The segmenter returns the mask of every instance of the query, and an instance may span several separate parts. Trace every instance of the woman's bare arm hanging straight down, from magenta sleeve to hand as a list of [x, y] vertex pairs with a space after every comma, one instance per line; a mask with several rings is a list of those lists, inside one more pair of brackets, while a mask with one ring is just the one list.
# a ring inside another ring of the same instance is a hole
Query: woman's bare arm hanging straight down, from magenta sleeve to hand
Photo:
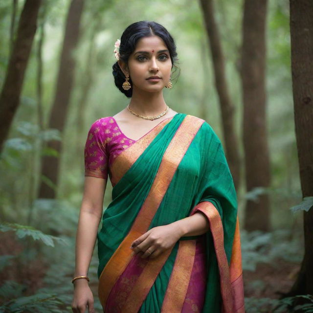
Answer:
[[[107, 179], [85, 177], [84, 194], [76, 232], [74, 277], [88, 276], [89, 265], [95, 246], [99, 223], [102, 217], [103, 197]], [[86, 279], [74, 281], [73, 312], [89, 312], [93, 308], [93, 297]]]

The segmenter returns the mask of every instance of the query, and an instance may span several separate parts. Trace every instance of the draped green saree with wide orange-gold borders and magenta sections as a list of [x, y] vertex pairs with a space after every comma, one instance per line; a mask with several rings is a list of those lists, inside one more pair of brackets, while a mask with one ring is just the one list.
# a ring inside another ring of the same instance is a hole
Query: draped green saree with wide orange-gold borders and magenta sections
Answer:
[[[97, 236], [104, 312], [243, 313], [236, 192], [210, 125], [177, 113], [117, 156], [110, 174]], [[196, 213], [209, 221], [205, 234], [181, 237], [154, 259], [133, 254], [149, 229]]]

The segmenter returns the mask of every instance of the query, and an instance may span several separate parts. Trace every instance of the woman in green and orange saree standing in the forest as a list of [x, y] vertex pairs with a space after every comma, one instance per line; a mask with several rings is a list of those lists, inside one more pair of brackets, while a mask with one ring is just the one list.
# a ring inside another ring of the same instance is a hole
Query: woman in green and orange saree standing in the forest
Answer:
[[[89, 130], [73, 312], [94, 312], [87, 273], [97, 237], [105, 313], [242, 313], [237, 200], [223, 147], [207, 122], [163, 98], [175, 42], [141, 21], [114, 52], [115, 85], [131, 101]], [[108, 176], [112, 202], [102, 217]]]

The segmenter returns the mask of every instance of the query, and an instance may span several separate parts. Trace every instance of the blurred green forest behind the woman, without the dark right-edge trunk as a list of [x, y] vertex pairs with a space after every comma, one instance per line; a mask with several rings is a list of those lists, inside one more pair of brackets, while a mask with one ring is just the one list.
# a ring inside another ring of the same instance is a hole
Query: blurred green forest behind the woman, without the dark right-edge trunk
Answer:
[[[304, 232], [287, 0], [0, 1], [0, 312], [71, 312], [84, 145], [96, 119], [130, 101], [114, 85], [113, 49], [141, 20], [177, 44], [166, 103], [205, 119], [223, 142], [246, 312], [307, 312], [288, 311], [308, 292], [289, 293]], [[101, 312], [96, 253], [89, 285]]]

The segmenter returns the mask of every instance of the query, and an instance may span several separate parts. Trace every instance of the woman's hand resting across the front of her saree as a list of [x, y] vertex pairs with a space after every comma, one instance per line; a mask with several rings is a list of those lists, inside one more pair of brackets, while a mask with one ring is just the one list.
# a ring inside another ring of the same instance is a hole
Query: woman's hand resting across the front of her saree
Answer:
[[154, 259], [163, 251], [173, 247], [181, 235], [181, 230], [177, 224], [157, 226], [134, 240], [131, 248], [135, 254], [143, 253], [142, 258], [150, 256]]

